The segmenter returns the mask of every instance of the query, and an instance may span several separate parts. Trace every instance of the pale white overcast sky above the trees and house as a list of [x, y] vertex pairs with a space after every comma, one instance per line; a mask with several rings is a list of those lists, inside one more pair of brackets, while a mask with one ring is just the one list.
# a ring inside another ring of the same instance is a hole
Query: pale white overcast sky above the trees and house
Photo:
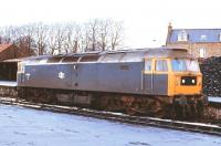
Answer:
[[157, 46], [165, 44], [169, 22], [221, 28], [220, 7], [220, 0], [1, 0], [0, 25], [114, 19], [124, 22], [126, 46]]

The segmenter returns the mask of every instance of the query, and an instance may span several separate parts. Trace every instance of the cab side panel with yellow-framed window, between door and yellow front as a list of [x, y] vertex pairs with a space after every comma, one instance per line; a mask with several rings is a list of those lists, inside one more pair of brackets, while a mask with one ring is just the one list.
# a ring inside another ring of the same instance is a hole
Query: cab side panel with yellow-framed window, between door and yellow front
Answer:
[[154, 60], [152, 94], [167, 95], [168, 93], [168, 60]]

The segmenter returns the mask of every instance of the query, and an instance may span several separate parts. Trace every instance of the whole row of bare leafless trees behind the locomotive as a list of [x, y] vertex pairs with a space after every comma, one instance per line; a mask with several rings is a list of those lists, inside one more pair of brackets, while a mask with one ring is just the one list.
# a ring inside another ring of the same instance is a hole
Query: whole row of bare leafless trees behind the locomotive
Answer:
[[0, 28], [0, 43], [20, 46], [21, 56], [116, 50], [123, 43], [123, 23], [94, 19], [87, 23], [34, 23]]

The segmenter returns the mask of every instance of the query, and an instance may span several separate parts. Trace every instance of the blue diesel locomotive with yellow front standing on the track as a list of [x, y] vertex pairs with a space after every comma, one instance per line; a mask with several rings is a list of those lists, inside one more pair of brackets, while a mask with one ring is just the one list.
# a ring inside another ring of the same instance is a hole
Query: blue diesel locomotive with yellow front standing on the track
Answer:
[[202, 74], [185, 49], [137, 49], [27, 58], [19, 97], [129, 114], [192, 116], [201, 112]]

